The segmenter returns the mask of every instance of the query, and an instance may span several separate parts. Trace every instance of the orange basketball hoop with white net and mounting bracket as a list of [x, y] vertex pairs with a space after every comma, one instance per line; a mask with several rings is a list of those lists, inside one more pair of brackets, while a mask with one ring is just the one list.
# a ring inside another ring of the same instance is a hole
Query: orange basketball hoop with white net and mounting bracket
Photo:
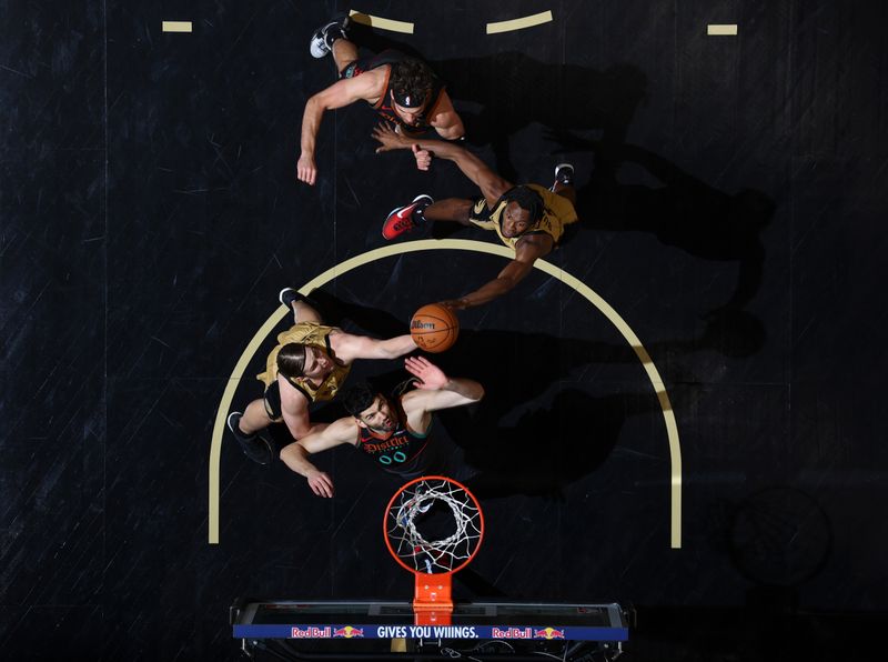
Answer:
[[415, 575], [416, 624], [448, 625], [451, 575], [468, 565], [484, 538], [475, 496], [442, 475], [412, 480], [389, 501], [383, 536], [395, 561]]

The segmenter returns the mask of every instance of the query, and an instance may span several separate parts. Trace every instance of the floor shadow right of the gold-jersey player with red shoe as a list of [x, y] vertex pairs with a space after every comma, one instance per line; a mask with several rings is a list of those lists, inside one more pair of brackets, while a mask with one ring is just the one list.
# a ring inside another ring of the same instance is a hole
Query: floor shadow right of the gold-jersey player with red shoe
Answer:
[[[710, 314], [739, 310], [756, 295], [766, 258], [761, 232], [776, 209], [771, 198], [753, 189], [726, 193], [637, 146], [564, 132], [553, 138], [568, 152], [595, 157], [588, 183], [577, 189], [581, 222], [572, 229], [649, 232], [696, 258], [736, 261], [734, 293]], [[640, 167], [660, 185], [622, 183], [617, 174], [626, 163]]]

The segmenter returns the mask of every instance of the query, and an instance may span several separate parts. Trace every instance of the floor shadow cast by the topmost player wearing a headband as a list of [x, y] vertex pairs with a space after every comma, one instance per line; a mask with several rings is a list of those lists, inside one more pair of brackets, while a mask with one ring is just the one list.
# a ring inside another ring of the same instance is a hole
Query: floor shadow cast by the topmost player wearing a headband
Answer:
[[509, 153], [512, 136], [536, 123], [553, 131], [595, 131], [605, 143], [619, 144], [647, 93], [647, 76], [629, 63], [596, 70], [543, 62], [518, 51], [432, 60], [432, 53], [366, 26], [352, 23], [350, 31], [362, 49], [393, 48], [427, 61], [447, 86], [466, 141], [490, 144], [494, 170], [511, 181], [523, 181]]

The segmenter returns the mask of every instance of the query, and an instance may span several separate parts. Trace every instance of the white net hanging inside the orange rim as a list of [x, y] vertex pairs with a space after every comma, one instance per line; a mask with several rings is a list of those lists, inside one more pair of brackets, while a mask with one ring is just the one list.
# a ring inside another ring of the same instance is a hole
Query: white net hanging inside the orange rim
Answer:
[[[422, 520], [435, 502], [450, 509], [455, 530], [441, 540], [430, 541], [417, 529], [416, 520]], [[481, 543], [481, 510], [457, 483], [423, 479], [397, 494], [386, 514], [385, 531], [392, 550], [408, 566], [427, 574], [453, 572], [468, 562]]]

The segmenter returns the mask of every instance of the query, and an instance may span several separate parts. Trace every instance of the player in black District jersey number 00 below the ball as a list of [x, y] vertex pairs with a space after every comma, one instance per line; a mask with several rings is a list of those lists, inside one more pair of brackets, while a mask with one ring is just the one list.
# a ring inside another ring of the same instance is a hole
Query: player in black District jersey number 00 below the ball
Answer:
[[427, 473], [437, 460], [432, 437], [432, 412], [477, 402], [484, 388], [465, 378], [451, 379], [422, 357], [404, 361], [416, 378], [416, 389], [397, 398], [386, 398], [369, 387], [345, 392], [345, 408], [352, 414], [331, 423], [325, 430], [309, 434], [281, 451], [281, 460], [309, 481], [319, 496], [333, 496], [333, 481], [309, 461], [309, 457], [351, 443], [374, 460], [383, 470], [404, 479]]

